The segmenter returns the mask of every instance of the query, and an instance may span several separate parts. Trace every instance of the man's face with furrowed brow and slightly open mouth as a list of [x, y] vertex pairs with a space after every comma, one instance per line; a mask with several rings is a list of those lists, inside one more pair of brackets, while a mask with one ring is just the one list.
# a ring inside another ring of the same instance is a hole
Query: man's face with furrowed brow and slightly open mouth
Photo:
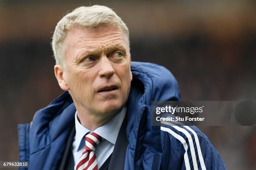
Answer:
[[74, 28], [65, 38], [63, 78], [77, 108], [90, 113], [115, 113], [131, 87], [131, 56], [118, 28]]

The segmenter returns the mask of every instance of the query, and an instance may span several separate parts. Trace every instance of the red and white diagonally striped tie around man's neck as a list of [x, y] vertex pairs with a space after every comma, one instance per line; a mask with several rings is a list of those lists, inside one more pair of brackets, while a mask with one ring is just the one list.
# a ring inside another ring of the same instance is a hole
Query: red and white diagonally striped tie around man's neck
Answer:
[[85, 135], [85, 149], [79, 158], [76, 170], [97, 170], [97, 160], [95, 155], [96, 145], [102, 141], [102, 138], [96, 133]]

